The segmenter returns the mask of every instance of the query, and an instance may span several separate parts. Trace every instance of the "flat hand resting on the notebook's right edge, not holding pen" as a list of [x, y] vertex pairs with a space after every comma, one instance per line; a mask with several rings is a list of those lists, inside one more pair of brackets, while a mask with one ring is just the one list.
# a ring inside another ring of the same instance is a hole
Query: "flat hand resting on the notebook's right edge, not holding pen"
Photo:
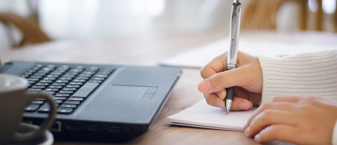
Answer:
[[257, 142], [332, 143], [337, 104], [318, 97], [275, 97], [258, 107], [244, 126]]

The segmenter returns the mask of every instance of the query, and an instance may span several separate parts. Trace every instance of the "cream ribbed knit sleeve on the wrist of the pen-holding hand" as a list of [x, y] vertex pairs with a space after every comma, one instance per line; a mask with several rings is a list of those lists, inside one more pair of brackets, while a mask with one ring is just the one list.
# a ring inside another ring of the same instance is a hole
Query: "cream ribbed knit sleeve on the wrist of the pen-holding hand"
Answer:
[[337, 100], [337, 50], [258, 59], [263, 75], [262, 103], [275, 96]]

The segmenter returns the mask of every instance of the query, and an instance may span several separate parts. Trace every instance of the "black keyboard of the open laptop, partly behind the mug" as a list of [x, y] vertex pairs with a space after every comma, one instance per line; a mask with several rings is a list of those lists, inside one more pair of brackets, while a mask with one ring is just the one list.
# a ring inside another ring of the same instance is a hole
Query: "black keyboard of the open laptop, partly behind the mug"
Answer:
[[[28, 80], [28, 93], [51, 94], [57, 113], [71, 114], [113, 72], [113, 68], [36, 65], [21, 77]], [[49, 102], [35, 99], [25, 111], [48, 113]]]

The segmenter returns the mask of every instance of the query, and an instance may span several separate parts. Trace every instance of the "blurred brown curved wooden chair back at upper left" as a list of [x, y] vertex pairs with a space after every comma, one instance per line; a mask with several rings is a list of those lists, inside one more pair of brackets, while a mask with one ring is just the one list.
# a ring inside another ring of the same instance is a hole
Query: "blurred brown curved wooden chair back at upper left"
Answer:
[[51, 39], [40, 29], [36, 23], [18, 15], [0, 13], [0, 21], [6, 24], [8, 27], [13, 25], [23, 34], [23, 39], [19, 44], [12, 44], [13, 48], [20, 47], [25, 43], [36, 44], [51, 41]]

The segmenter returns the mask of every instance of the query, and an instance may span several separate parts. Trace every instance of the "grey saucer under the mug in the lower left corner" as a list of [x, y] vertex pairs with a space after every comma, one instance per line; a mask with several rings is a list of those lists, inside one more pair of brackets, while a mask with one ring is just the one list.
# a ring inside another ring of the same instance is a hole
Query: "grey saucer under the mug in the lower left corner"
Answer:
[[[20, 133], [26, 133], [37, 129], [39, 129], [39, 126], [28, 123], [20, 123], [20, 126], [17, 131]], [[20, 142], [10, 142], [9, 145], [52, 145], [53, 142], [54, 142], [53, 134], [49, 130], [46, 130], [43, 135], [37, 138]]]

